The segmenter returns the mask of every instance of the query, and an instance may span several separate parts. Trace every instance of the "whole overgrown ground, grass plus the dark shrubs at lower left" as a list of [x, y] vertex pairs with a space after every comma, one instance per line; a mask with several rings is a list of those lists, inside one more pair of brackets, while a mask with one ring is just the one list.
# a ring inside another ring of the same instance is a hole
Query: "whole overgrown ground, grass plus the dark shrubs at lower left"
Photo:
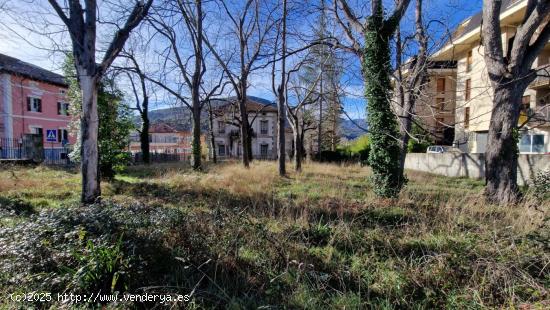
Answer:
[[550, 307], [550, 201], [483, 202], [483, 183], [408, 173], [375, 197], [369, 169], [271, 162], [131, 167], [80, 206], [77, 171], [0, 168], [0, 308], [10, 293], [187, 294], [80, 307]]

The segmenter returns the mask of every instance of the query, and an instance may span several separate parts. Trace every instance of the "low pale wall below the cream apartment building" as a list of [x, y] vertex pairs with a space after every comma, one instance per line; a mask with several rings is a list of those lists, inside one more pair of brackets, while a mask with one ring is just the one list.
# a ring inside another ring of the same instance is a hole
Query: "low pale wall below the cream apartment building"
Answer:
[[[485, 177], [484, 154], [427, 154], [410, 153], [405, 169], [423, 171], [449, 177]], [[518, 160], [518, 184], [523, 185], [541, 170], [550, 170], [550, 155], [522, 154]]]

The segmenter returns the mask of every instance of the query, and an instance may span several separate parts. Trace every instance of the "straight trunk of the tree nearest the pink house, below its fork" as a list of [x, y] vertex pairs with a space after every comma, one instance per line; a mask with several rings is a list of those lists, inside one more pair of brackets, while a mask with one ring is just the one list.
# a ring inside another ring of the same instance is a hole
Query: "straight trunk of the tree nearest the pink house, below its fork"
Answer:
[[97, 145], [99, 118], [95, 78], [89, 75], [80, 75], [80, 87], [82, 89], [82, 117], [80, 121], [80, 135], [82, 139], [80, 149], [82, 170], [81, 200], [84, 203], [94, 203], [101, 195]]

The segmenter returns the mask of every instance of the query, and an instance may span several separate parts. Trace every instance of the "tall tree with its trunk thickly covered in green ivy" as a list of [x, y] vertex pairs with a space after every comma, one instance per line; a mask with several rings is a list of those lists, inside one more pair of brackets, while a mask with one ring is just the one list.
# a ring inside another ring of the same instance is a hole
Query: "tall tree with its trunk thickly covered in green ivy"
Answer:
[[[373, 171], [374, 191], [381, 197], [397, 196], [405, 183], [399, 169], [399, 129], [390, 106], [390, 40], [409, 2], [397, 1], [394, 11], [386, 17], [383, 1], [372, 0], [371, 15], [362, 22], [346, 0], [335, 0], [334, 3], [337, 22], [351, 44], [339, 46], [356, 54], [362, 63], [372, 147], [369, 164]], [[340, 18], [340, 11], [347, 22]], [[355, 36], [357, 33], [363, 36], [363, 46]]]

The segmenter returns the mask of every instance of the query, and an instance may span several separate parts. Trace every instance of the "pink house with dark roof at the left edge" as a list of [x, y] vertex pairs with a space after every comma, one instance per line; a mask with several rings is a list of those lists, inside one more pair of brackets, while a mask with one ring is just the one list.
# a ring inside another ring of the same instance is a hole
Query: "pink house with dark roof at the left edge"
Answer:
[[63, 76], [0, 54], [0, 139], [41, 134], [44, 148], [74, 144]]

